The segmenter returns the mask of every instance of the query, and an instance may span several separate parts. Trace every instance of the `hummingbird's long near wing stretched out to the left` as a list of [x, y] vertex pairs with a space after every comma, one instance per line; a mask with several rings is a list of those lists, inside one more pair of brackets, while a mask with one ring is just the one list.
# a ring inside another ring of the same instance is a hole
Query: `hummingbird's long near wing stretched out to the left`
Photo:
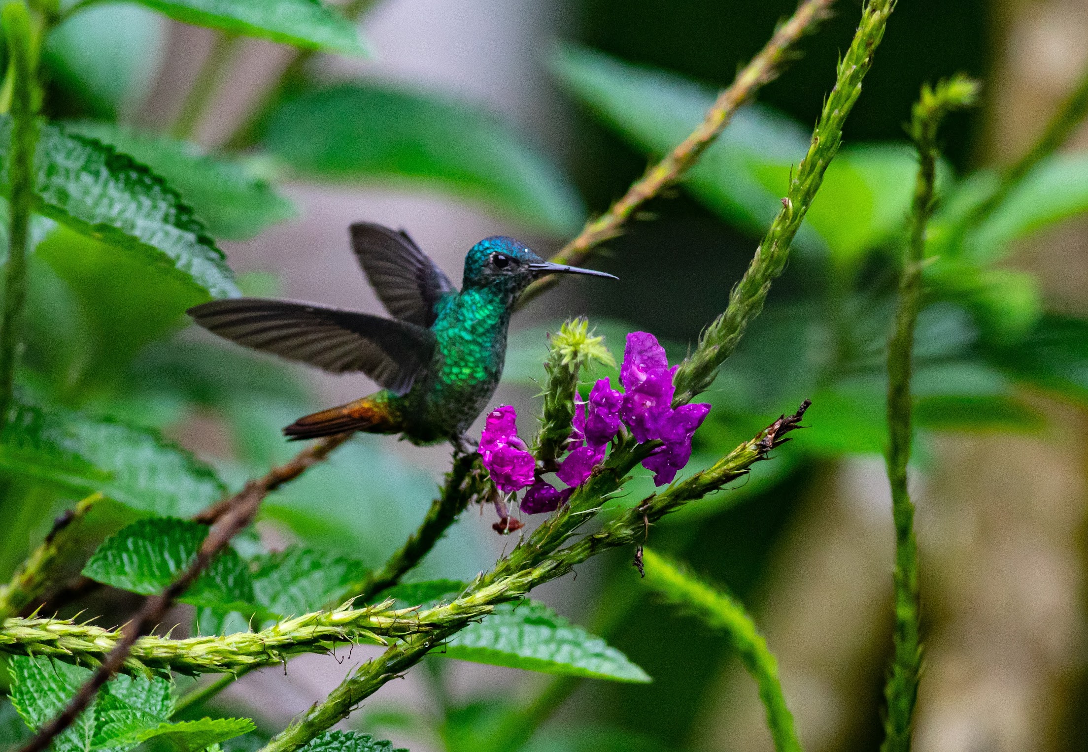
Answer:
[[312, 303], [233, 298], [188, 314], [238, 344], [334, 374], [359, 371], [397, 394], [411, 388], [434, 350], [434, 334], [421, 326]]

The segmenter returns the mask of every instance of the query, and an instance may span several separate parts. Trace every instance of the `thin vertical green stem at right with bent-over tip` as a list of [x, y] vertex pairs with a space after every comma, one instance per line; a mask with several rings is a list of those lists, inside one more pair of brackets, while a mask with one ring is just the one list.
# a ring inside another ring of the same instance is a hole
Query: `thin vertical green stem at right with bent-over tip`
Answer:
[[911, 719], [918, 695], [922, 672], [919, 637], [918, 541], [914, 532], [914, 502], [907, 490], [906, 467], [911, 460], [911, 372], [914, 328], [922, 300], [922, 267], [926, 227], [936, 208], [937, 129], [953, 108], [975, 101], [978, 85], [954, 76], [934, 89], [923, 87], [914, 105], [911, 136], [918, 150], [918, 174], [907, 218], [908, 239], [904, 249], [895, 318], [888, 339], [888, 482], [895, 523], [895, 631], [894, 655], [885, 686], [888, 713], [885, 717], [882, 752], [910, 752]]

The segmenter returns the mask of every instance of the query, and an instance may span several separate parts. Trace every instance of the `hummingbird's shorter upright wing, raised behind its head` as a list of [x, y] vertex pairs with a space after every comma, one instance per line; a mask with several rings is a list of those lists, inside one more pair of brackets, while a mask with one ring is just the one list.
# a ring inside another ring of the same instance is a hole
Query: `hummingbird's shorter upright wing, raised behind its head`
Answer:
[[400, 321], [430, 328], [435, 305], [455, 292], [449, 277], [404, 230], [369, 222], [351, 225], [351, 248], [386, 310]]

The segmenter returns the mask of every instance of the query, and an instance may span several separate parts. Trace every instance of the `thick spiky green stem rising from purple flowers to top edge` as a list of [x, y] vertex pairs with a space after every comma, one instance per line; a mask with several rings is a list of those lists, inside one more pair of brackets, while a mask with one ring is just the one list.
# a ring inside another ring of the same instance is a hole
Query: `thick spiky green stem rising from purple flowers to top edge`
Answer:
[[718, 367], [737, 349], [749, 322], [763, 310], [770, 283], [786, 268], [790, 243], [816, 198], [824, 171], [839, 151], [842, 126], [862, 93], [862, 82], [873, 65], [873, 57], [894, 9], [895, 0], [868, 0], [865, 3], [861, 24], [850, 49], [839, 62], [834, 88], [824, 102], [808, 153], [790, 183], [789, 193], [782, 199], [782, 209], [756, 249], [744, 276], [732, 289], [726, 312], [703, 331], [695, 352], [680, 365], [673, 379], [677, 387], [673, 404], [690, 402], [710, 386]]

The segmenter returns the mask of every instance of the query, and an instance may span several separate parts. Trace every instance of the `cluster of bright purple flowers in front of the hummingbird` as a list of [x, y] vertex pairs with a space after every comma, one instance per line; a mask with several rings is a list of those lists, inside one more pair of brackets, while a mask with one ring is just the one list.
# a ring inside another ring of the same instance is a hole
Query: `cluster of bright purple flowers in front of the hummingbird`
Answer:
[[691, 459], [692, 437], [710, 411], [708, 404], [672, 409], [676, 371], [676, 366], [669, 367], [665, 348], [653, 335], [633, 331], [627, 336], [619, 376], [623, 391], [613, 389], [603, 378], [593, 385], [588, 401], [576, 403], [569, 452], [556, 472], [570, 488], [560, 491], [535, 477], [535, 462], [517, 436], [516, 414], [509, 405], [487, 415], [480, 436], [483, 464], [504, 493], [529, 488], [521, 500], [524, 512], [551, 512], [567, 501], [574, 487], [585, 482], [604, 461], [608, 442], [627, 424], [640, 443], [663, 442], [642, 464], [654, 473], [657, 486], [671, 482]]

